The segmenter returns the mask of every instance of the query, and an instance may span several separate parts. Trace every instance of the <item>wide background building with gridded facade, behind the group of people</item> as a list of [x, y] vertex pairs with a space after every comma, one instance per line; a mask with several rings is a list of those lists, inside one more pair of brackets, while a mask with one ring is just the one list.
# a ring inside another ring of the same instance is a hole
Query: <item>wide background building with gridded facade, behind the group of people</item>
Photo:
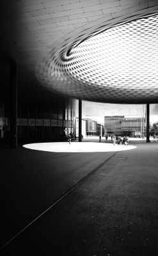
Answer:
[[145, 118], [125, 116], [104, 116], [104, 134], [129, 137], [145, 136]]

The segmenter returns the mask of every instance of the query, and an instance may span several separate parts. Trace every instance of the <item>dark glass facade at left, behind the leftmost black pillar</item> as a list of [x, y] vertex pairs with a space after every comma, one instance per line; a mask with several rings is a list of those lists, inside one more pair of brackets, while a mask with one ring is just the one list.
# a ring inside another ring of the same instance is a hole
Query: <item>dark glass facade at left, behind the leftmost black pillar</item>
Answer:
[[[45, 108], [19, 104], [17, 115], [18, 141], [63, 140], [69, 133], [75, 136], [75, 119], [78, 117], [75, 99], [52, 102]], [[0, 131], [4, 140], [10, 139], [10, 113], [1, 106]]]

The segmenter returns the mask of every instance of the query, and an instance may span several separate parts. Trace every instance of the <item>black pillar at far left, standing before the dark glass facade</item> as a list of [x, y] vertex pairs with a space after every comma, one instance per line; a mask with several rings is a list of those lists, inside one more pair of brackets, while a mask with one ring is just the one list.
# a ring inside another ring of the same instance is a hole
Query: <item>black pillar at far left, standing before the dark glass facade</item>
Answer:
[[17, 63], [10, 63], [10, 147], [17, 148]]

